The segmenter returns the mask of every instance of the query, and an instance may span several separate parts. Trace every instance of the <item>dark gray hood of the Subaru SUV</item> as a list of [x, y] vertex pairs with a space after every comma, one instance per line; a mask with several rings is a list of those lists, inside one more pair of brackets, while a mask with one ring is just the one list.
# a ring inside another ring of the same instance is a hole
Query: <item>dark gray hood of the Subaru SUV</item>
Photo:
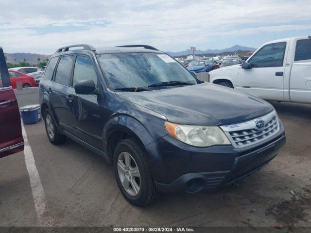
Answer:
[[118, 92], [117, 96], [165, 116], [192, 125], [223, 125], [273, 111], [270, 103], [240, 91], [211, 83], [145, 92]]

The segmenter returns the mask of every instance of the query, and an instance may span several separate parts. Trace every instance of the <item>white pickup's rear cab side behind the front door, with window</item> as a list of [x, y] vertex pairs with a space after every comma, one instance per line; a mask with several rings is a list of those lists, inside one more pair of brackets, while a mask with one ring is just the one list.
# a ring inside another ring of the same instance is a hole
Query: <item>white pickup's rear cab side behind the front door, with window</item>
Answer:
[[294, 62], [290, 77], [290, 100], [311, 103], [311, 38], [295, 42]]

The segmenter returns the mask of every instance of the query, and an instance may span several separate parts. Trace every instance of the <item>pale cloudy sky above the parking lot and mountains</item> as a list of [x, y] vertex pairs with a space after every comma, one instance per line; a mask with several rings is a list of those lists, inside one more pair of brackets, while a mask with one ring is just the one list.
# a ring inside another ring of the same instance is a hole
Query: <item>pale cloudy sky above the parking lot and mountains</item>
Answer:
[[311, 35], [310, 0], [0, 1], [0, 46], [7, 53], [52, 54], [70, 44], [258, 48], [302, 35]]

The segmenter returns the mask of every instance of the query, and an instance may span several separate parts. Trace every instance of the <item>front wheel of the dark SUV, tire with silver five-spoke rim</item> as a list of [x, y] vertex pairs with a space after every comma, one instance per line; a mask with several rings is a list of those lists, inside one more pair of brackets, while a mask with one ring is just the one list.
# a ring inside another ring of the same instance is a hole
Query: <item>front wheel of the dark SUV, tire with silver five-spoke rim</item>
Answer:
[[[130, 166], [127, 167], [125, 162], [126, 154], [130, 155], [131, 157]], [[147, 205], [157, 200], [160, 196], [160, 192], [155, 187], [155, 183], [152, 178], [152, 174], [146, 157], [146, 153], [141, 150], [137, 142], [132, 138], [122, 140], [117, 145], [113, 154], [113, 167], [115, 177], [121, 193], [128, 202], [136, 206]], [[120, 165], [120, 162], [123, 164]], [[138, 169], [136, 169], [136, 167]], [[125, 169], [127, 169], [128, 171], [127, 177], [125, 177]], [[130, 173], [129, 170], [133, 171], [133, 173]], [[136, 175], [134, 174], [134, 170]], [[128, 189], [123, 186], [122, 179], [123, 183], [125, 183], [125, 186], [128, 186]], [[126, 179], [128, 179], [128, 181], [126, 181]], [[129, 184], [126, 185], [127, 183]], [[138, 192], [135, 192], [134, 186], [139, 186]]]

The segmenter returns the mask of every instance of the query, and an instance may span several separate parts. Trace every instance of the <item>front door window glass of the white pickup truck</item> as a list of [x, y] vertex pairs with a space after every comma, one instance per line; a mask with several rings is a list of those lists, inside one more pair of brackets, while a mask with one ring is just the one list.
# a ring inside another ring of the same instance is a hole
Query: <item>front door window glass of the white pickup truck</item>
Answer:
[[286, 42], [265, 45], [248, 61], [252, 67], [282, 67]]

